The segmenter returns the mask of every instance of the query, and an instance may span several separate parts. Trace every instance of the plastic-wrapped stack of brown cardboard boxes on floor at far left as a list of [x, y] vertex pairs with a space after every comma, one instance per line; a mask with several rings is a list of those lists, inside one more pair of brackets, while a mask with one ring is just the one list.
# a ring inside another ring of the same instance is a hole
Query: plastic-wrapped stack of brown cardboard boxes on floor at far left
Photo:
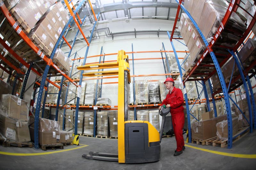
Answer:
[[17, 96], [1, 96], [0, 136], [14, 142], [30, 141], [27, 102]]

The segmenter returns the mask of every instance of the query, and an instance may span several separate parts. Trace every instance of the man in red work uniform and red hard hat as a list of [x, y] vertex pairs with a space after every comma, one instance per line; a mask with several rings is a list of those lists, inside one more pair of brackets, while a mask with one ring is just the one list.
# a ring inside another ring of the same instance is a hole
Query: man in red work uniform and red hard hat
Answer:
[[184, 126], [184, 107], [182, 106], [184, 103], [182, 91], [178, 88], [174, 87], [174, 80], [168, 77], [164, 81], [166, 89], [169, 90], [166, 98], [159, 106], [159, 110], [161, 110], [162, 105], [166, 105], [167, 108], [171, 108], [172, 115], [172, 126], [176, 139], [177, 148], [174, 152], [173, 156], [179, 156], [183, 150], [185, 150], [184, 138], [183, 138], [183, 126]]

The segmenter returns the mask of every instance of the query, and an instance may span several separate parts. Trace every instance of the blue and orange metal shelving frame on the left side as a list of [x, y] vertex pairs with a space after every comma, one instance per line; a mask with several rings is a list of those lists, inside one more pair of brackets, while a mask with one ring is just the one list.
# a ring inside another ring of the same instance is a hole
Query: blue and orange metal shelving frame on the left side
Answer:
[[[72, 9], [70, 8], [69, 6], [69, 3], [72, 4], [71, 1], [67, 1], [65, 0], [65, 4], [67, 5], [67, 8], [71, 14], [71, 18], [69, 18], [68, 20], [68, 23], [65, 25], [64, 29], [63, 30], [66, 30], [68, 28], [68, 26], [70, 27], [69, 23], [71, 23], [72, 20], [75, 21], [76, 25], [78, 26], [80, 32], [82, 33], [86, 43], [87, 43], [87, 51], [86, 51], [86, 55], [88, 53], [88, 49], [89, 49], [89, 45], [90, 43], [88, 42], [88, 40], [86, 39], [80, 25], [78, 24], [77, 20], [76, 20], [76, 17], [75, 17], [75, 14], [77, 14], [78, 10], [80, 10], [80, 8], [82, 7], [82, 5], [85, 3], [85, 0], [82, 0], [79, 2], [79, 5], [77, 6], [77, 8], [75, 9], [75, 7], [73, 6], [74, 8], [74, 13], [72, 11]], [[57, 87], [58, 89], [61, 89], [62, 86], [58, 86], [57, 84], [53, 83], [52, 81], [50, 81], [49, 79], [47, 79], [47, 74], [48, 74], [48, 71], [50, 69], [50, 66], [52, 66], [54, 69], [56, 69], [56, 72], [57, 73], [60, 73], [60, 75], [62, 75], [63, 77], [65, 77], [65, 79], [67, 79], [68, 81], [72, 82], [74, 85], [76, 85], [77, 87], [81, 87], [81, 82], [79, 82], [79, 84], [77, 84], [75, 81], [73, 81], [67, 74], [65, 74], [60, 68], [58, 68], [53, 62], [52, 62], [52, 58], [53, 58], [53, 55], [60, 43], [60, 40], [63, 38], [64, 41], [66, 41], [65, 37], [63, 36], [64, 34], [64, 31], [61, 33], [56, 45], [54, 46], [54, 49], [52, 51], [52, 54], [50, 56], [50, 58], [47, 58], [45, 56], [45, 54], [43, 52], [41, 52], [41, 50], [39, 50], [39, 48], [33, 44], [33, 42], [27, 37], [27, 35], [21, 30], [20, 26], [16, 23], [16, 21], [12, 18], [12, 16], [10, 15], [8, 9], [5, 7], [3, 1], [1, 0], [0, 1], [0, 7], [1, 7], [1, 12], [4, 14], [4, 17], [8, 20], [8, 22], [10, 23], [10, 25], [13, 27], [13, 29], [18, 33], [18, 35], [28, 44], [28, 46], [30, 46], [30, 48], [32, 50], [34, 50], [36, 52], [36, 54], [41, 58], [43, 59], [45, 62], [46, 62], [46, 67], [44, 70], [42, 70], [43, 74], [40, 74], [38, 71], [36, 71], [33, 67], [32, 67], [32, 64], [29, 65], [28, 63], [26, 63], [20, 56], [18, 56], [4, 41], [3, 39], [0, 38], [0, 43], [2, 44], [2, 46], [10, 53], [12, 54], [12, 56], [14, 56], [22, 65], [24, 65], [25, 67], [28, 68], [28, 71], [27, 73], [29, 74], [29, 72], [32, 70], [34, 73], [36, 73], [37, 75], [39, 75], [40, 77], [42, 77], [42, 80], [41, 80], [41, 83], [39, 82], [35, 82], [37, 85], [40, 85], [40, 88], [38, 90], [38, 98], [37, 98], [37, 102], [36, 102], [36, 112], [35, 112], [35, 129], [34, 129], [34, 135], [35, 135], [35, 148], [38, 149], [39, 148], [39, 145], [38, 145], [38, 121], [39, 121], [39, 112], [40, 112], [40, 106], [41, 106], [41, 99], [42, 99], [42, 94], [43, 94], [43, 89], [45, 89], [46, 87], [44, 86], [45, 84], [45, 81], [48, 81], [48, 85], [49, 83], [51, 83], [53, 86]], [[93, 10], [93, 9], [92, 9]], [[94, 12], [93, 12], [94, 13]], [[95, 16], [95, 14], [94, 14]], [[99, 15], [98, 15], [99, 16]], [[79, 18], [79, 16], [78, 16]], [[95, 23], [97, 21], [98, 18], [95, 18]], [[80, 18], [79, 18], [80, 20]], [[81, 20], [80, 20], [81, 22]], [[66, 34], [67, 35], [67, 34]], [[92, 36], [91, 36], [92, 37]], [[91, 40], [91, 38], [90, 38]], [[89, 40], [89, 41], [90, 41]], [[62, 41], [63, 42], [63, 41]], [[85, 59], [84, 59], [84, 62], [86, 60], [86, 55], [85, 55]], [[1, 56], [2, 57], [2, 56]], [[3, 60], [3, 58], [1, 58]], [[6, 61], [8, 62], [8, 61]], [[8, 64], [8, 63], [7, 63]], [[9, 63], [10, 64], [10, 63]], [[12, 68], [14, 68], [17, 73], [21, 73], [21, 74], [24, 74], [25, 73], [22, 73], [20, 72], [20, 69], [18, 69], [17, 67], [14, 67], [13, 65], [10, 64], [10, 66], [12, 66]], [[27, 74], [27, 75], [28, 75]], [[27, 78], [25, 77], [24, 81], [23, 81], [23, 87], [22, 87], [22, 93], [24, 93], [25, 91], [25, 87], [26, 87], [26, 82], [27, 81]], [[34, 93], [34, 94], [36, 94]], [[79, 101], [79, 98], [78, 98], [78, 101]], [[78, 105], [79, 106], [79, 105]], [[43, 106], [44, 108], [44, 106]], [[32, 111], [32, 110], [31, 110]], [[78, 111], [78, 110], [77, 110]], [[76, 111], [76, 114], [77, 114], [77, 111]], [[33, 114], [33, 113], [32, 113]], [[77, 121], [76, 121], [77, 122]], [[76, 124], [77, 126], [77, 124]], [[76, 128], [77, 129], [77, 128]], [[77, 133], [77, 131], [75, 131], [75, 133]]]

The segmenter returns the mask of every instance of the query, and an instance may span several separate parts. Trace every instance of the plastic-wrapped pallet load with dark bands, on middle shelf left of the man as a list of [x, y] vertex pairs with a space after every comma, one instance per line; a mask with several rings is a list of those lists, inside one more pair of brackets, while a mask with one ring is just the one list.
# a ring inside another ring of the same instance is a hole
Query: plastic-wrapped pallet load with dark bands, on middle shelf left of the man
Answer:
[[148, 82], [148, 96], [150, 103], [159, 103], [160, 102], [160, 93], [159, 93], [159, 82], [151, 81]]

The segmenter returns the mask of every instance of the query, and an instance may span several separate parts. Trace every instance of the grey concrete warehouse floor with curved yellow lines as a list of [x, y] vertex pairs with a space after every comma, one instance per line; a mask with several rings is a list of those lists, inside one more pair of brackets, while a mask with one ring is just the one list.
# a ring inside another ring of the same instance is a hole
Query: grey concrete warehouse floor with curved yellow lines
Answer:
[[[185, 137], [185, 135], [184, 135]], [[256, 131], [245, 135], [233, 144], [232, 149], [213, 147], [211, 145], [186, 144], [186, 150], [177, 157], [173, 156], [176, 149], [175, 138], [163, 138], [161, 143], [161, 158], [157, 162], [140, 164], [119, 164], [117, 162], [89, 160], [82, 154], [89, 151], [117, 153], [117, 139], [79, 137], [80, 146], [64, 146], [64, 150], [34, 150], [28, 147], [0, 146], [0, 169], [255, 169], [256, 167]], [[88, 146], [86, 146], [88, 145]], [[192, 147], [191, 147], [192, 146]], [[77, 148], [77, 149], [75, 149]], [[67, 149], [72, 149], [68, 150]], [[204, 151], [200, 150], [203, 149]], [[66, 151], [65, 151], [66, 150]], [[253, 159], [224, 156], [207, 151], [226, 152], [230, 154], [253, 154]], [[64, 152], [62, 152], [64, 151]], [[11, 153], [44, 153], [33, 156], [10, 156]]]

